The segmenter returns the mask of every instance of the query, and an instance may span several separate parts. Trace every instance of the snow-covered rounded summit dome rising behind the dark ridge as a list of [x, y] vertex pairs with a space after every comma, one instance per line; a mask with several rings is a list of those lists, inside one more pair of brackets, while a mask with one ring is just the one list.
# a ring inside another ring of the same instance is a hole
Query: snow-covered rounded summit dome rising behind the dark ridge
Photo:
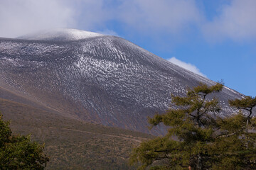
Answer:
[[92, 33], [85, 30], [76, 30], [73, 28], [56, 28], [53, 30], [44, 30], [39, 33], [33, 33], [18, 37], [18, 39], [24, 40], [81, 40], [85, 38], [92, 38], [102, 36], [99, 33]]

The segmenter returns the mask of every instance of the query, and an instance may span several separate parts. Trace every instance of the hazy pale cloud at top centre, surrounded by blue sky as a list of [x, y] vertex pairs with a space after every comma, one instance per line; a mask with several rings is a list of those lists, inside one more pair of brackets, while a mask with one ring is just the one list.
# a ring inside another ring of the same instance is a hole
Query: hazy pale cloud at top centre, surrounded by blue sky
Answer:
[[119, 21], [142, 33], [180, 33], [190, 24], [201, 21], [196, 2], [186, 0], [122, 1], [117, 15]]

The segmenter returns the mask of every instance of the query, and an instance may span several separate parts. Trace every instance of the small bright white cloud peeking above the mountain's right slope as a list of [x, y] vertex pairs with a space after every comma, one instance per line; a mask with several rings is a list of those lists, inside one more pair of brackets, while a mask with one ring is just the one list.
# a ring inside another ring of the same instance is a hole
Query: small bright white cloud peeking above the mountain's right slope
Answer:
[[176, 59], [176, 57], [171, 57], [168, 59], [169, 62], [178, 65], [179, 67], [182, 67], [184, 69], [188, 69], [191, 72], [194, 72], [196, 74], [199, 74], [203, 77], [206, 77], [205, 74], [201, 73], [200, 70], [193, 64], [182, 62], [181, 60]]

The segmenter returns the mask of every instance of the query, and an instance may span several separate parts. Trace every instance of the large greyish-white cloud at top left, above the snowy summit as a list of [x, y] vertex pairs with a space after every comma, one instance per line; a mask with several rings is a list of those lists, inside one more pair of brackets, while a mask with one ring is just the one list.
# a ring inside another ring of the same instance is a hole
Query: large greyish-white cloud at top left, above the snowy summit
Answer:
[[113, 12], [104, 3], [103, 0], [0, 0], [0, 37], [16, 38], [51, 28], [97, 30]]

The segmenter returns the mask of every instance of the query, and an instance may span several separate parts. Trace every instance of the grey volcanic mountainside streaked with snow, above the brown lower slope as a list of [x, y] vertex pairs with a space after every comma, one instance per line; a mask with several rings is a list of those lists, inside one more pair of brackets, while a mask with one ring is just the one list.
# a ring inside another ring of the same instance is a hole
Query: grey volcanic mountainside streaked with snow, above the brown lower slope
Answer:
[[[147, 116], [165, 111], [171, 94], [182, 96], [200, 82], [215, 84], [114, 36], [0, 39], [0, 87], [102, 125], [149, 132]], [[242, 97], [227, 87], [217, 95], [224, 115], [233, 113], [228, 99]]]

